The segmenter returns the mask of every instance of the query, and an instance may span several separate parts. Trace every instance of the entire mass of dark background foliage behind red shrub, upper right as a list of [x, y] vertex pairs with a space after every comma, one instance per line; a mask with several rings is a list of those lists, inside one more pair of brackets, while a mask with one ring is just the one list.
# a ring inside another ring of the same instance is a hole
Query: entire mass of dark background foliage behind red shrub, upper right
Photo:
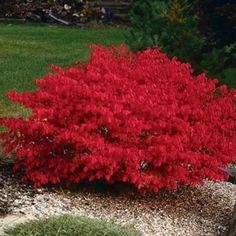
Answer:
[[[236, 40], [231, 36], [236, 17], [230, 15], [229, 4], [236, 9], [236, 4], [224, 0], [134, 0], [126, 42], [133, 51], [159, 47], [170, 57], [190, 62], [195, 73], [204, 71], [236, 87], [232, 73], [236, 68]], [[224, 27], [222, 36], [217, 25]]]

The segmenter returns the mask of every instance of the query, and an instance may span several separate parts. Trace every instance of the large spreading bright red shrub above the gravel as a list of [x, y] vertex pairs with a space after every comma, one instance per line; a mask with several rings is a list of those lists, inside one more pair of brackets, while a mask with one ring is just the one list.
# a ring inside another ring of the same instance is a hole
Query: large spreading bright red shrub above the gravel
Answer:
[[5, 149], [35, 186], [81, 180], [129, 182], [139, 190], [227, 178], [235, 162], [235, 90], [216, 88], [157, 49], [94, 46], [90, 60], [10, 92], [32, 108], [5, 118]]

